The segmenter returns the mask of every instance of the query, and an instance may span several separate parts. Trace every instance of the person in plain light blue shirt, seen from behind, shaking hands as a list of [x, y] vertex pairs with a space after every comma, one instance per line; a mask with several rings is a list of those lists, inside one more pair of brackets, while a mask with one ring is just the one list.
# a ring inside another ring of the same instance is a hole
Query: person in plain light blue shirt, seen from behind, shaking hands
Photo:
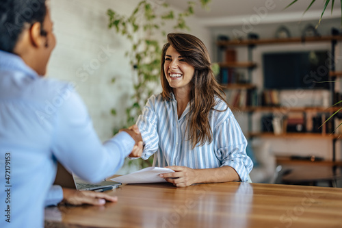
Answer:
[[116, 201], [51, 188], [57, 161], [97, 182], [142, 152], [136, 126], [102, 144], [72, 86], [42, 77], [55, 43], [46, 0], [0, 0], [0, 227], [43, 227], [44, 205], [62, 198], [76, 205]]

